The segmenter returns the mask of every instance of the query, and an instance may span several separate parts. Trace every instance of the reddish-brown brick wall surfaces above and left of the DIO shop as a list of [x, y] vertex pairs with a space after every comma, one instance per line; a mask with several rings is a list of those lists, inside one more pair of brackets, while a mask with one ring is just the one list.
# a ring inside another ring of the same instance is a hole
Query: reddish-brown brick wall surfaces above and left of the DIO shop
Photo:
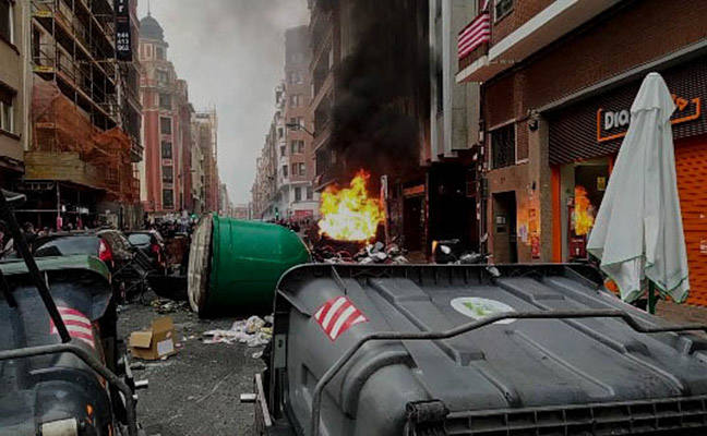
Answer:
[[[504, 32], [507, 35], [517, 28], [523, 22], [522, 14], [527, 20], [549, 3], [516, 1], [514, 13], [494, 26], [494, 40], [502, 38]], [[538, 10], [534, 11], [534, 7]], [[547, 125], [541, 120], [539, 131], [528, 131], [532, 109], [707, 38], [705, 16], [707, 2], [704, 1], [627, 2], [623, 9], [610, 12], [582, 32], [564, 37], [530, 62], [520, 63], [483, 84], [482, 110], [487, 129], [517, 120], [517, 157], [529, 157], [527, 165], [489, 172], [489, 191], [491, 194], [516, 192], [519, 225], [526, 208], [538, 211], [543, 261], [550, 259], [552, 244]], [[537, 192], [528, 190], [534, 183]], [[487, 222], [493, 247], [491, 214], [492, 210]], [[529, 259], [529, 246], [519, 243], [518, 257], [522, 262]]]

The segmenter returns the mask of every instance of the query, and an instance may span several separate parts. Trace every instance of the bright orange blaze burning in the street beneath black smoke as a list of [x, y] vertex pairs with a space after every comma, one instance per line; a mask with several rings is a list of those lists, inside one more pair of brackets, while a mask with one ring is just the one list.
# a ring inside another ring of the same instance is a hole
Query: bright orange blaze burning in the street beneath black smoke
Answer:
[[320, 234], [339, 241], [366, 242], [375, 238], [385, 213], [376, 198], [368, 195], [371, 174], [360, 170], [349, 187], [328, 186], [322, 193]]

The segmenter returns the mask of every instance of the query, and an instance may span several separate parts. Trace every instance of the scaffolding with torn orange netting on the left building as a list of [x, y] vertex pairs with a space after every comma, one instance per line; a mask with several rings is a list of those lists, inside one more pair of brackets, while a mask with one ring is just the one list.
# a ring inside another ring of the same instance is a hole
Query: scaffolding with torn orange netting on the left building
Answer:
[[137, 70], [115, 56], [109, 0], [32, 0], [28, 180], [62, 180], [139, 201]]

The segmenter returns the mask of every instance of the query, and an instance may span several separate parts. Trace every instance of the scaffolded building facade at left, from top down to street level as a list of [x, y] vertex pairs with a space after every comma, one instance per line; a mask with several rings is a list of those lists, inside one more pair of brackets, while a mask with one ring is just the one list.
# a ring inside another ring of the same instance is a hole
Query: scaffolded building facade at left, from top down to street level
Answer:
[[[20, 3], [29, 9], [32, 100], [25, 175], [15, 187], [33, 210], [21, 219], [50, 228], [140, 225], [136, 1], [10, 1], [11, 9]], [[120, 53], [118, 19], [129, 29]]]

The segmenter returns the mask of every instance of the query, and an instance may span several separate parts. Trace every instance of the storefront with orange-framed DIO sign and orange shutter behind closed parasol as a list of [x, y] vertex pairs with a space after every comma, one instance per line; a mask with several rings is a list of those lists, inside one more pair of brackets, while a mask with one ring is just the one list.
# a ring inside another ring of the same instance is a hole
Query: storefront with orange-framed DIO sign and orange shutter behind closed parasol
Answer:
[[[707, 58], [659, 72], [676, 106], [672, 129], [690, 263], [690, 303], [707, 305]], [[587, 233], [631, 123], [630, 109], [642, 80], [643, 75], [544, 114], [550, 126], [554, 261], [587, 256]]]

